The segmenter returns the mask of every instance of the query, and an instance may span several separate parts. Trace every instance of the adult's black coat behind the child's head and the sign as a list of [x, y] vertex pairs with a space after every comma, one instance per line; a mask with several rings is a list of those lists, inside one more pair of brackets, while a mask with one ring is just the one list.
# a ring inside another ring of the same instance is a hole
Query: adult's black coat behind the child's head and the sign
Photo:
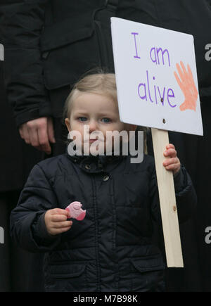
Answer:
[[[110, 17], [193, 34], [200, 99], [211, 96], [210, 0], [3, 1], [5, 81], [17, 125], [60, 117], [70, 85], [96, 66], [113, 70]], [[119, 3], [118, 3], [119, 2]], [[118, 3], [118, 4], [117, 4]], [[117, 9], [116, 9], [117, 8]]]

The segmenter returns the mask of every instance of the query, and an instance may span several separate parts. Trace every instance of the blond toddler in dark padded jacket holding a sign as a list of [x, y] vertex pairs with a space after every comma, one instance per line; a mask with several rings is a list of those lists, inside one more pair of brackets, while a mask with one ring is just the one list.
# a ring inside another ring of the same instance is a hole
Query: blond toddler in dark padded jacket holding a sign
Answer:
[[[95, 141], [106, 149], [108, 131], [136, 129], [120, 122], [115, 75], [81, 79], [65, 113], [69, 132], [81, 135], [82, 155], [67, 150], [34, 166], [11, 213], [13, 239], [26, 250], [45, 253], [46, 291], [164, 291], [165, 261], [152, 241], [153, 220], [160, 220], [153, 157], [132, 163], [121, 150], [119, 155], [91, 151]], [[196, 193], [174, 146], [163, 149], [183, 222], [196, 205]], [[86, 210], [82, 220], [65, 210], [74, 201]]]

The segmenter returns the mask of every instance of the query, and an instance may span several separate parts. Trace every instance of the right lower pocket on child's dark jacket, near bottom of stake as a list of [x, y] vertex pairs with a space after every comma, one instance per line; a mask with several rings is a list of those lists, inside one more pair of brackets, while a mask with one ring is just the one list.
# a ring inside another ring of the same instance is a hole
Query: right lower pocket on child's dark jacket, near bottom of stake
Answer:
[[165, 291], [165, 264], [160, 255], [131, 258], [132, 291]]

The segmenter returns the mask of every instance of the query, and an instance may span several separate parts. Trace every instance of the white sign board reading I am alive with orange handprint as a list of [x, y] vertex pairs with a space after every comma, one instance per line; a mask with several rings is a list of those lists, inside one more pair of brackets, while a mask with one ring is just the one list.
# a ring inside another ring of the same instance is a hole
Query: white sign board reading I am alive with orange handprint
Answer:
[[193, 36], [111, 18], [120, 120], [203, 135]]

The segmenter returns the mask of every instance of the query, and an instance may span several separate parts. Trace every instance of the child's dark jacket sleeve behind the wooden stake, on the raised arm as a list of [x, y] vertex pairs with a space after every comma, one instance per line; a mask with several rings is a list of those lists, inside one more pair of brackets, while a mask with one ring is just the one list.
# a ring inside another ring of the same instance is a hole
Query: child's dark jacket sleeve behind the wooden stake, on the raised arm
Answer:
[[[179, 223], [183, 223], [191, 217], [197, 204], [196, 191], [184, 165], [181, 165], [179, 174], [174, 177], [174, 189]], [[153, 219], [155, 221], [160, 221], [160, 201], [155, 172], [153, 172], [151, 178], [151, 212]]]

